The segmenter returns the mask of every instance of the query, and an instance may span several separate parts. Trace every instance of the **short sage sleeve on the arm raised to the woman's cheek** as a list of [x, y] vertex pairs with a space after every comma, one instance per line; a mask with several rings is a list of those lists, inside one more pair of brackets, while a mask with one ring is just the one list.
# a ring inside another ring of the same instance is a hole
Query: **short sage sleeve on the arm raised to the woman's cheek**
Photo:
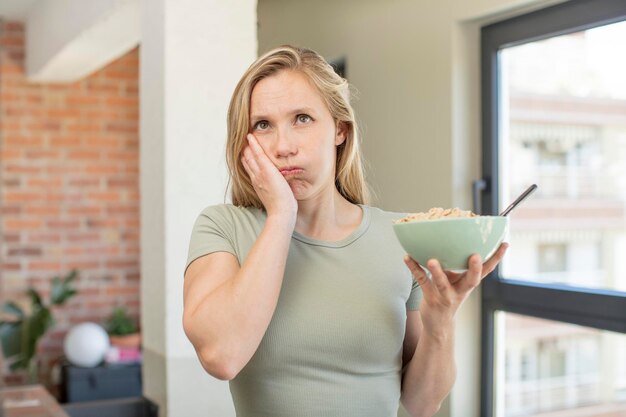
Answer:
[[185, 272], [193, 261], [213, 252], [229, 252], [237, 256], [234, 234], [232, 215], [225, 206], [202, 210], [191, 231]]

